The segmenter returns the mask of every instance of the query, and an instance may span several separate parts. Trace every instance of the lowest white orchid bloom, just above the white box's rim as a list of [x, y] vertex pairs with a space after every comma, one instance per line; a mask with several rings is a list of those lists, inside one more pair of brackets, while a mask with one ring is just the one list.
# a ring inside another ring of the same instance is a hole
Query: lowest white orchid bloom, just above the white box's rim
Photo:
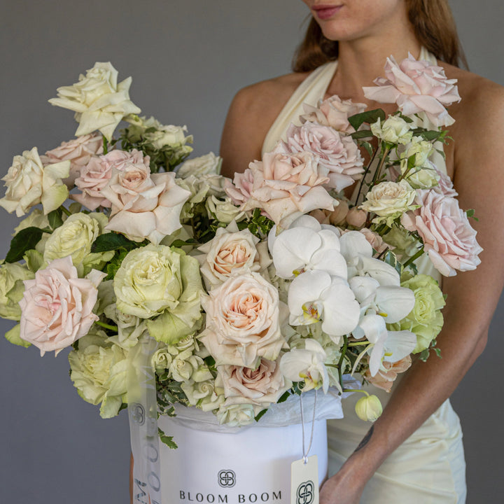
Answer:
[[291, 349], [284, 353], [280, 360], [280, 372], [290, 381], [304, 380], [303, 391], [318, 388], [322, 381], [322, 389], [328, 391], [329, 377], [324, 365], [327, 354], [321, 344], [314, 339], [304, 340], [304, 349]]

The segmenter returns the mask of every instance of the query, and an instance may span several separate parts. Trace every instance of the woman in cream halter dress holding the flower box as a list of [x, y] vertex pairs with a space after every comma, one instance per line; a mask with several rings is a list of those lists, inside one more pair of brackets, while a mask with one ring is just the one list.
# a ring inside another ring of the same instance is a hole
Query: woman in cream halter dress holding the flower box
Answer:
[[[362, 91], [382, 76], [386, 57], [400, 61], [411, 52], [416, 58], [437, 59], [447, 77], [458, 80], [462, 98], [449, 109], [456, 123], [449, 128], [454, 141], [445, 148], [447, 174], [454, 180], [461, 207], [475, 209], [479, 221], [473, 226], [484, 248], [476, 272], [443, 280], [447, 305], [437, 338], [442, 360], [414, 362], [367, 433], [351, 417], [351, 407], [346, 408], [346, 423], [330, 424], [330, 465], [335, 474], [323, 485], [320, 501], [463, 503], [461, 433], [447, 398], [483, 351], [503, 288], [504, 231], [494, 223], [500, 224], [504, 216], [504, 173], [498, 154], [504, 88], [458, 68], [461, 50], [447, 0], [303, 1], [313, 19], [295, 71], [237, 94], [223, 131], [223, 173], [243, 172], [281, 137], [279, 124], [296, 120], [300, 112], [290, 97], [305, 92], [314, 105], [317, 99], [337, 94], [365, 103], [368, 109], [393, 113], [395, 105], [371, 102]], [[322, 66], [334, 59], [337, 66]], [[335, 71], [321, 85], [330, 68]], [[314, 89], [319, 96], [312, 96]]]

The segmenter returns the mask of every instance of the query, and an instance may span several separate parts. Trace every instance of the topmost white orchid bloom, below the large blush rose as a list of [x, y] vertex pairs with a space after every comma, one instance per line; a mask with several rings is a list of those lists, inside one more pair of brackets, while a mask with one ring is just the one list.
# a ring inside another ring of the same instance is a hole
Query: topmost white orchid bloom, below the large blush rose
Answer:
[[321, 226], [316, 218], [302, 216], [288, 230], [276, 236], [276, 226], [269, 232], [268, 246], [276, 274], [283, 279], [311, 269], [321, 269], [346, 279], [346, 261], [339, 253], [339, 231]]

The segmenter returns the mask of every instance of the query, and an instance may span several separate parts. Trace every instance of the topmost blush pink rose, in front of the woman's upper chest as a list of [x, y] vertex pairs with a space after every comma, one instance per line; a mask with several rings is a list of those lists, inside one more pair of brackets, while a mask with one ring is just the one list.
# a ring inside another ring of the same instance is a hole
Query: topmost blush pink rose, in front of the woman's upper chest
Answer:
[[449, 126], [447, 105], [460, 102], [456, 79], [449, 79], [442, 66], [414, 59], [409, 55], [400, 64], [389, 57], [385, 64], [386, 78], [377, 78], [377, 87], [363, 87], [364, 96], [379, 103], [396, 103], [405, 116], [426, 113], [435, 127]]

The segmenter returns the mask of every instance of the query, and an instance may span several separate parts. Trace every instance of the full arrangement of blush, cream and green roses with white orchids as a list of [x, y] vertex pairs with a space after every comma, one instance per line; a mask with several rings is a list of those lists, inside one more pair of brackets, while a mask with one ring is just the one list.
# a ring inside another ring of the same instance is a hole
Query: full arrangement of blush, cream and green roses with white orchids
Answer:
[[[18, 322], [6, 338], [71, 346], [73, 384], [104, 418], [127, 405], [145, 338], [161, 414], [181, 403], [243, 426], [289, 395], [347, 391], [346, 374], [390, 390], [442, 328], [444, 297], [416, 260], [453, 275], [481, 248], [435, 163], [454, 81], [411, 56], [386, 77], [365, 95], [397, 113], [306, 106], [233, 180], [213, 153], [186, 160], [185, 127], [139, 117], [110, 63], [60, 87], [50, 103], [75, 112], [77, 138], [15, 156], [3, 177], [0, 205], [25, 217], [0, 266], [0, 316]], [[381, 413], [372, 395], [356, 409]]]

